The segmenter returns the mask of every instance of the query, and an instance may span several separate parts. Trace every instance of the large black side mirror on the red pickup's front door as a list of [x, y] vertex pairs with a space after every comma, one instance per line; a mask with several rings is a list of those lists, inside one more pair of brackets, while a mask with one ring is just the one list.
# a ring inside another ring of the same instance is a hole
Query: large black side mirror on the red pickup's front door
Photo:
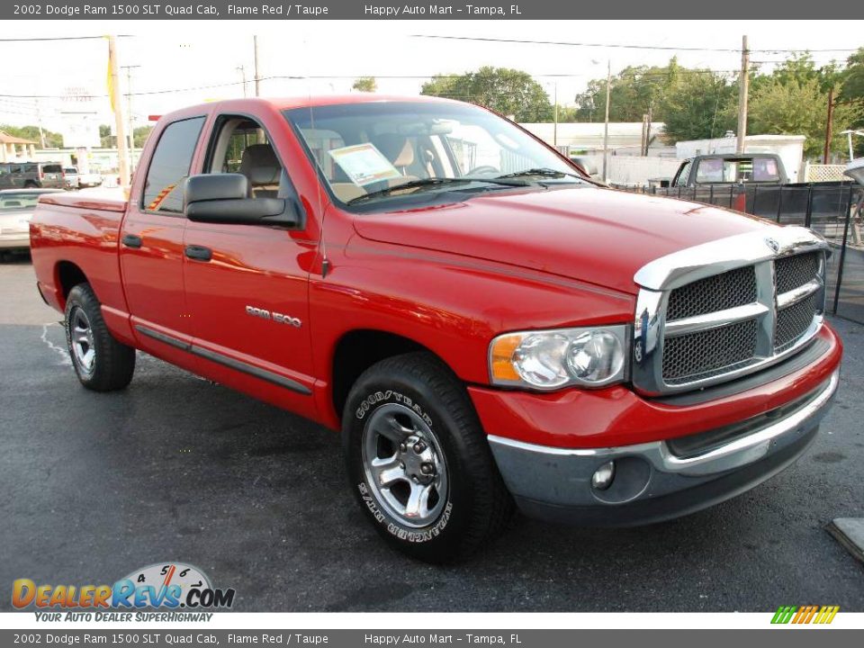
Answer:
[[243, 174], [192, 175], [184, 186], [186, 218], [224, 225], [297, 227], [302, 207], [296, 198], [249, 198]]

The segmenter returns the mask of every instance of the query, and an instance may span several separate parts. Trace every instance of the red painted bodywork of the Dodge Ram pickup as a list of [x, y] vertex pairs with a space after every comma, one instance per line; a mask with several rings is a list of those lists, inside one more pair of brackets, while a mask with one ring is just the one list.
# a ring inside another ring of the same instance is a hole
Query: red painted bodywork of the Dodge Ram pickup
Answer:
[[[546, 394], [489, 387], [489, 344], [500, 333], [632, 322], [640, 266], [682, 247], [776, 226], [592, 187], [503, 191], [387, 214], [343, 211], [329, 202], [281, 111], [366, 101], [382, 97], [235, 100], [166, 115], [148, 140], [129, 205], [95, 193], [41, 199], [31, 224], [41, 292], [62, 311], [59, 268], [72, 264], [93, 285], [117, 338], [331, 428], [339, 426], [331, 393], [335, 350], [347, 334], [365, 329], [409, 338], [441, 357], [469, 385], [487, 433], [560, 447], [630, 445], [722, 426], [795, 399], [838, 365], [840, 342], [825, 327], [820, 335], [832, 350], [817, 365], [698, 406], [646, 401], [622, 385]], [[201, 173], [214, 122], [226, 113], [253, 116], [266, 129], [306, 211], [302, 229], [205, 225], [141, 209], [146, 169], [166, 125], [205, 117], [190, 171]], [[123, 234], [142, 238], [142, 247], [121, 247]], [[187, 245], [210, 247], [213, 260], [185, 257]], [[247, 306], [302, 326], [258, 320]], [[141, 335], [135, 325], [258, 375]], [[309, 393], [263, 380], [261, 372]]]

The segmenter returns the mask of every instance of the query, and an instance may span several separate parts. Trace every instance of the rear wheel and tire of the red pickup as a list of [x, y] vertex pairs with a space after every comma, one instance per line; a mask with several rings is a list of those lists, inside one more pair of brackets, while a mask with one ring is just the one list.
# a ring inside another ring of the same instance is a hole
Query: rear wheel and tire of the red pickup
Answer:
[[[84, 322], [87, 324], [83, 326]], [[79, 343], [78, 340], [85, 340]], [[118, 342], [105, 326], [90, 284], [78, 284], [66, 301], [66, 342], [78, 380], [94, 392], [126, 387], [135, 372], [135, 349]], [[92, 356], [85, 351], [92, 350]], [[90, 362], [85, 358], [89, 357]]]

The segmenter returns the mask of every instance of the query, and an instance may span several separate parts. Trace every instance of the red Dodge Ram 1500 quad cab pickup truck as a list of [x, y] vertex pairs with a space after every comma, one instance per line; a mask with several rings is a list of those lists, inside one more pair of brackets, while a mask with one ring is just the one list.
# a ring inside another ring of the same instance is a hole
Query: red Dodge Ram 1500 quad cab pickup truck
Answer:
[[341, 429], [351, 490], [432, 562], [529, 516], [635, 525], [794, 462], [838, 383], [828, 247], [621, 193], [480, 107], [376, 95], [163, 116], [128, 201], [31, 224], [76, 374], [135, 349]]

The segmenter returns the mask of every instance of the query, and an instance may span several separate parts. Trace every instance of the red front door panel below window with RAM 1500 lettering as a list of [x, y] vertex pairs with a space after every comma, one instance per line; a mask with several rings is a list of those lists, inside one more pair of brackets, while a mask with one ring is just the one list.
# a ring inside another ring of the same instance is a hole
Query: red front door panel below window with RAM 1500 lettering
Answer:
[[246, 391], [275, 384], [279, 404], [311, 415], [308, 277], [317, 244], [294, 236], [187, 222], [185, 246], [211, 255], [184, 259], [186, 300], [204, 374]]

